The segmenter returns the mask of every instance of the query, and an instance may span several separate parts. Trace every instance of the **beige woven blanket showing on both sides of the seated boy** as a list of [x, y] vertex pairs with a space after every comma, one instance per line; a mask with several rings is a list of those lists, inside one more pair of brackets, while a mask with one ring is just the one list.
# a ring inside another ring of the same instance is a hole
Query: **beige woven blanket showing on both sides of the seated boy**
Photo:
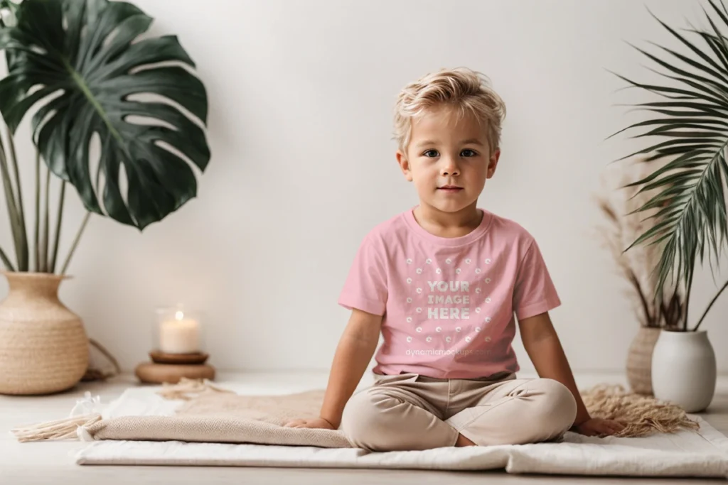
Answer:
[[[295, 418], [317, 417], [324, 390], [283, 396], [240, 396], [210, 382], [186, 380], [160, 391], [184, 399], [175, 416], [116, 417], [79, 430], [84, 440], [194, 441], [253, 443], [322, 448], [352, 445], [340, 430], [285, 428]], [[678, 406], [628, 393], [621, 386], [600, 385], [582, 392], [593, 417], [627, 423], [618, 436], [670, 433], [697, 428]]]

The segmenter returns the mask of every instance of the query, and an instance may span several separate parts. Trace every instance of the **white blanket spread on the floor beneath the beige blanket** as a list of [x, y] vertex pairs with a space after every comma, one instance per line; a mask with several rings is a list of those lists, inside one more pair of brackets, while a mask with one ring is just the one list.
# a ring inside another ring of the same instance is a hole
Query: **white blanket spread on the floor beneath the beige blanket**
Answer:
[[[240, 392], [234, 385], [226, 388]], [[181, 401], [131, 388], [104, 417], [173, 415]], [[244, 391], [243, 391], [244, 392]], [[728, 478], [728, 438], [708, 422], [646, 438], [590, 438], [566, 433], [561, 443], [439, 448], [423, 452], [371, 453], [363, 449], [312, 446], [98, 441], [76, 455], [79, 465], [218, 465], [306, 468], [410, 468], [489, 470], [614, 476], [702, 476]]]

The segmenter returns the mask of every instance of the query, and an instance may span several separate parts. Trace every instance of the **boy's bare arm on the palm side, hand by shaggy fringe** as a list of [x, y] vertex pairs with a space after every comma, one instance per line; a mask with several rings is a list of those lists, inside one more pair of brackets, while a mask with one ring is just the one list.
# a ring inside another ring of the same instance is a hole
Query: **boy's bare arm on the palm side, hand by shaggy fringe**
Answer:
[[518, 328], [523, 340], [523, 348], [529, 354], [534, 363], [539, 377], [557, 380], [565, 385], [577, 401], [577, 417], [574, 420], [573, 428], [579, 433], [587, 436], [611, 435], [622, 430], [624, 426], [614, 420], [601, 420], [592, 418], [582, 401], [574, 375], [571, 374], [569, 361], [563, 352], [558, 334], [553, 328], [548, 312], [541, 313], [529, 318], [523, 318], [518, 322]]

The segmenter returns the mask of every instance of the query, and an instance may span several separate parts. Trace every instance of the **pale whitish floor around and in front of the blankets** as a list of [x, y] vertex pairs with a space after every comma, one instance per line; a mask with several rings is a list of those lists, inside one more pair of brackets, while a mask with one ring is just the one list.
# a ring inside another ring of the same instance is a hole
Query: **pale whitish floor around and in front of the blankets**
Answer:
[[[520, 374], [519, 377], [528, 377]], [[308, 388], [325, 386], [323, 374], [224, 374], [221, 380], [250, 381], [261, 385], [271, 382], [296, 382]], [[604, 375], [577, 375], [580, 388], [598, 382], [619, 382]], [[363, 380], [363, 384], [365, 381]], [[509, 475], [501, 470], [490, 472], [442, 472], [416, 470], [336, 470], [304, 468], [219, 468], [219, 467], [112, 467], [79, 466], [72, 454], [86, 444], [63, 441], [20, 444], [9, 433], [17, 425], [47, 420], [57, 420], [68, 415], [85, 390], [99, 394], [102, 401], [118, 397], [125, 388], [136, 385], [128, 375], [106, 383], [79, 385], [74, 390], [55, 396], [13, 397], [0, 396], [0, 484], [98, 484], [98, 485], [146, 485], [146, 484], [691, 484], [707, 483], [705, 479], [657, 479], [657, 478], [586, 478], [576, 476]], [[721, 433], [728, 435], [728, 389], [719, 382], [713, 404], [703, 414], [705, 420]]]

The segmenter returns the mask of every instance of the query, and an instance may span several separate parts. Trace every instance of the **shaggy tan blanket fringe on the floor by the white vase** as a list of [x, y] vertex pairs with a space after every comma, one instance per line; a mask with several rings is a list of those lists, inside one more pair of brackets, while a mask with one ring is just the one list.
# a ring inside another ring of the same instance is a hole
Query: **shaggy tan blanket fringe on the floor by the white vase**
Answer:
[[700, 428], [700, 424], [688, 417], [680, 406], [630, 392], [622, 385], [600, 384], [581, 394], [591, 417], [625, 424], [625, 428], [614, 435], [620, 438]]

